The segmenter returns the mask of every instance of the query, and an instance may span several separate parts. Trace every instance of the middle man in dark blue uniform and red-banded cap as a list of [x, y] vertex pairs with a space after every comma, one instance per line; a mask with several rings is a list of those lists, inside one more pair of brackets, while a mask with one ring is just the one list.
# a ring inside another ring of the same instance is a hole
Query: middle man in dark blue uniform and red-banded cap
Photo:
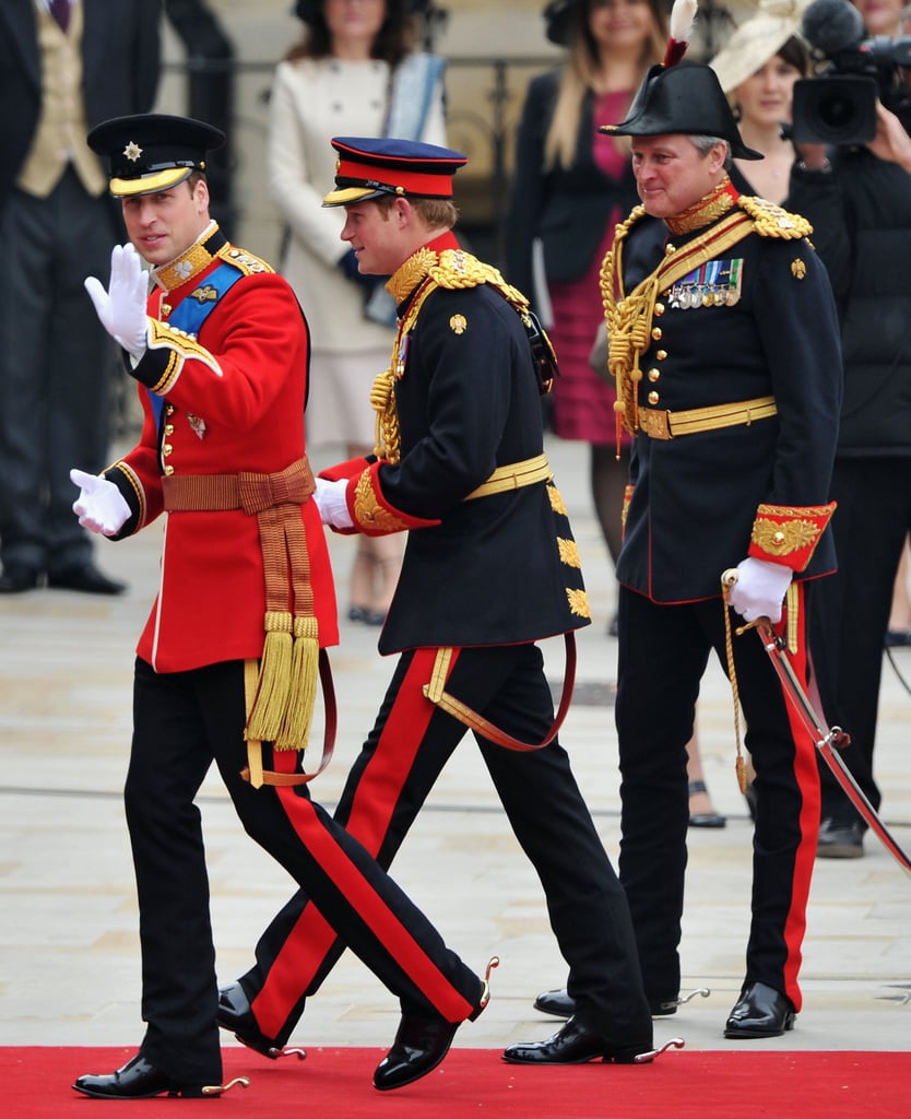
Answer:
[[[565, 751], [555, 737], [528, 749], [554, 722], [536, 641], [588, 624], [589, 606], [543, 451], [527, 300], [451, 232], [463, 156], [332, 142], [326, 205], [346, 207], [341, 236], [360, 271], [391, 276], [398, 329], [373, 394], [377, 454], [326, 471], [317, 501], [341, 532], [408, 533], [379, 640], [400, 660], [337, 819], [387, 865], [471, 727], [541, 876], [579, 1000], [545, 1059], [632, 1061], [652, 1033], [626, 897]], [[223, 991], [219, 1023], [274, 1054], [339, 951], [298, 893], [261, 939], [257, 966]]]

